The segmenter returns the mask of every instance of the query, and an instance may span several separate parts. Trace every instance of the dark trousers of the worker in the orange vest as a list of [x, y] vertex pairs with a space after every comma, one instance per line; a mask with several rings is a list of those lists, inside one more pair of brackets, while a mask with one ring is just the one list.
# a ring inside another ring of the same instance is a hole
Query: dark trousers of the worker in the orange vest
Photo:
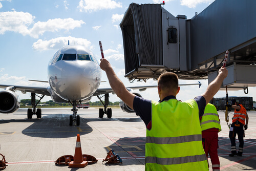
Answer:
[[[238, 126], [239, 125], [239, 126]], [[240, 122], [236, 124], [236, 122], [232, 123], [230, 127], [233, 127], [233, 131], [229, 131], [229, 139], [231, 142], [231, 153], [237, 154], [237, 148], [236, 148], [236, 136], [238, 135], [239, 140], [239, 149], [238, 154], [243, 154], [243, 148], [244, 148], [244, 125]]]

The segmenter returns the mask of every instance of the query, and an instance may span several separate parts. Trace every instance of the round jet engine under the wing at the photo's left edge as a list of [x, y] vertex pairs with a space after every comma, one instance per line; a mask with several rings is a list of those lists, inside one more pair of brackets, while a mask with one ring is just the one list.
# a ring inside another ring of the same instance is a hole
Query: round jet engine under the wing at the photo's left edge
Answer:
[[13, 91], [0, 91], [0, 113], [13, 113], [18, 110], [19, 106], [19, 97]]

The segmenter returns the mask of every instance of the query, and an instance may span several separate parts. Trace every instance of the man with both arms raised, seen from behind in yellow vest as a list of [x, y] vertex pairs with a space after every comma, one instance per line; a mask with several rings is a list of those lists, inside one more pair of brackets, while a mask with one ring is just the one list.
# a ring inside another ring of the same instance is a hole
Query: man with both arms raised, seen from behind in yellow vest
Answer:
[[127, 91], [109, 61], [100, 61], [113, 91], [146, 125], [145, 170], [208, 170], [199, 115], [220, 89], [227, 76], [226, 68], [219, 70], [205, 93], [185, 102], [176, 99], [180, 91], [178, 76], [166, 72], [158, 78], [157, 102]]

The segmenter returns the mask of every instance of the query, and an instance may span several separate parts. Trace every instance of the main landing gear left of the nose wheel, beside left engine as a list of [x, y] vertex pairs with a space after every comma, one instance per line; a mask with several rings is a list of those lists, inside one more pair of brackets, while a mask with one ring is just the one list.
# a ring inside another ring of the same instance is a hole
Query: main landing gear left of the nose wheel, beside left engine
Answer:
[[32, 119], [33, 115], [36, 115], [36, 118], [38, 119], [42, 117], [41, 108], [36, 109], [36, 106], [41, 101], [41, 99], [45, 97], [45, 95], [42, 95], [41, 97], [37, 96], [40, 98], [40, 100], [37, 103], [35, 103], [35, 96], [37, 96], [35, 93], [31, 93], [31, 105], [33, 109], [32, 108], [28, 109], [28, 119]]

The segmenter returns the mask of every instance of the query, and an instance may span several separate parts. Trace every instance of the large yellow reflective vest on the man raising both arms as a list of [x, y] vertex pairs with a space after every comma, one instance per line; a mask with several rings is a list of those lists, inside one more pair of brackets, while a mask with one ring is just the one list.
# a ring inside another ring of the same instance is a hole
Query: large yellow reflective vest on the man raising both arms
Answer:
[[145, 170], [208, 170], [197, 102], [152, 101], [146, 131]]

